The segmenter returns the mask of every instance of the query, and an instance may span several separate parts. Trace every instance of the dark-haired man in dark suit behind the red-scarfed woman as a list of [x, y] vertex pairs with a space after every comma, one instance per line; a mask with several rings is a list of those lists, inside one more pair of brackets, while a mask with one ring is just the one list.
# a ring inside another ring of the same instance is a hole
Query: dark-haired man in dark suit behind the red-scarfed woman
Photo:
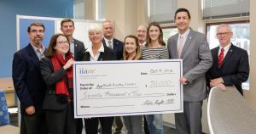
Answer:
[[65, 34], [70, 42], [70, 52], [73, 53], [76, 61], [81, 60], [82, 54], [85, 51], [84, 42], [73, 38], [73, 31], [75, 30], [74, 22], [71, 19], [64, 19], [61, 21], [61, 31]]

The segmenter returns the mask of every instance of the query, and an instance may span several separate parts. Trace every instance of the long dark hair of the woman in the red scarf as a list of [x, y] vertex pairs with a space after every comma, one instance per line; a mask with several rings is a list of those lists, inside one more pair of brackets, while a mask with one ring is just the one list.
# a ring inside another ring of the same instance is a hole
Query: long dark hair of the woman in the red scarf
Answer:
[[[49, 47], [47, 48], [45, 57], [51, 58], [55, 54], [55, 46], [57, 44], [57, 38], [59, 36], [65, 36], [67, 38], [67, 36], [62, 33], [58, 33], [58, 34], [51, 36], [50, 41], [49, 41]], [[68, 41], [68, 38], [67, 38], [67, 41]], [[70, 53], [70, 50], [68, 50], [67, 53]]]

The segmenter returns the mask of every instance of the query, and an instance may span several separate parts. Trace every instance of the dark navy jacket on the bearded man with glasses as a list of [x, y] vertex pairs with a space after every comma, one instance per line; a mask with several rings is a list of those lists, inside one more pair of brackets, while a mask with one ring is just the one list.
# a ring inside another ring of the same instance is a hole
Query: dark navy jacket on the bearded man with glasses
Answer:
[[12, 77], [15, 92], [20, 99], [20, 113], [29, 106], [41, 112], [46, 86], [40, 72], [40, 62], [31, 44], [14, 54]]

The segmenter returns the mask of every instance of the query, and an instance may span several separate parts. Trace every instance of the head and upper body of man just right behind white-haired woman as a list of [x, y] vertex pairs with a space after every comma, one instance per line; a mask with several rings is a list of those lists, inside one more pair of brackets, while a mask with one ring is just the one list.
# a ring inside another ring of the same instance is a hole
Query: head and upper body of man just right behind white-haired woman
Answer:
[[112, 48], [113, 52], [116, 53], [117, 59], [123, 59], [123, 42], [113, 37], [113, 23], [109, 20], [104, 21], [102, 31], [104, 35], [102, 38], [103, 45]]

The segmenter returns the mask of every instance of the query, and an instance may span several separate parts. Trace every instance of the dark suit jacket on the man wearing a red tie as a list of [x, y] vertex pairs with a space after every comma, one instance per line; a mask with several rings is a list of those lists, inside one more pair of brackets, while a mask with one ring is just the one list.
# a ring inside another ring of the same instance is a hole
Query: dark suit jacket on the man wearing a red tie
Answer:
[[218, 49], [211, 50], [213, 64], [207, 72], [207, 83], [210, 80], [222, 77], [225, 86], [235, 86], [241, 92], [241, 83], [247, 81], [249, 76], [249, 61], [247, 51], [231, 43], [229, 51], [224, 57], [223, 64], [218, 68]]

